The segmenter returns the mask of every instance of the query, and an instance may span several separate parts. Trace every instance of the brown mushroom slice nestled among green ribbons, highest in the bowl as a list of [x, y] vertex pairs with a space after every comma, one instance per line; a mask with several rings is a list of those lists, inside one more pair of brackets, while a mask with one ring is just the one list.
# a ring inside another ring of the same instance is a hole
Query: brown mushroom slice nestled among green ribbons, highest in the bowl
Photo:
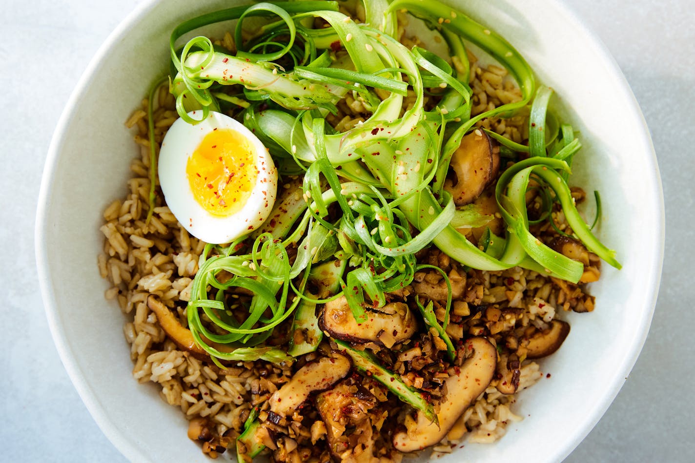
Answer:
[[472, 203], [495, 180], [500, 166], [500, 147], [476, 128], [461, 139], [449, 166], [444, 190], [451, 194], [456, 205]]

